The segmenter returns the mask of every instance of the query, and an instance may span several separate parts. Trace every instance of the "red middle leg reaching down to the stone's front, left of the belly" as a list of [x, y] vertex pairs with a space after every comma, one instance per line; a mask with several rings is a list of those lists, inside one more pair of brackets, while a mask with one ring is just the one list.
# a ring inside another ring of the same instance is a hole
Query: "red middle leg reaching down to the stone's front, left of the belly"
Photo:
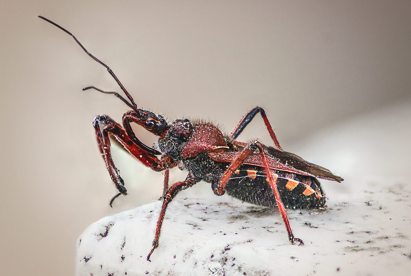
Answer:
[[159, 241], [160, 232], [161, 232], [161, 225], [163, 224], [164, 214], [166, 213], [167, 205], [169, 205], [171, 200], [173, 200], [173, 198], [175, 197], [175, 195], [179, 191], [185, 190], [185, 189], [193, 186], [196, 183], [197, 183], [197, 181], [194, 178], [194, 175], [192, 175], [190, 173], [187, 176], [187, 178], [185, 179], [185, 181], [177, 182], [177, 183], [173, 184], [173, 186], [171, 186], [170, 189], [168, 189], [168, 191], [166, 192], [166, 195], [164, 196], [163, 206], [162, 206], [161, 211], [160, 211], [160, 216], [159, 216], [158, 221], [157, 221], [157, 227], [156, 227], [156, 230], [155, 230], [154, 241], [153, 241], [153, 244], [152, 244], [153, 248], [151, 249], [150, 253], [148, 253], [148, 256], [147, 256], [148, 261], [150, 261], [150, 256], [153, 253], [154, 249], [158, 247], [158, 244], [159, 244], [158, 241]]

